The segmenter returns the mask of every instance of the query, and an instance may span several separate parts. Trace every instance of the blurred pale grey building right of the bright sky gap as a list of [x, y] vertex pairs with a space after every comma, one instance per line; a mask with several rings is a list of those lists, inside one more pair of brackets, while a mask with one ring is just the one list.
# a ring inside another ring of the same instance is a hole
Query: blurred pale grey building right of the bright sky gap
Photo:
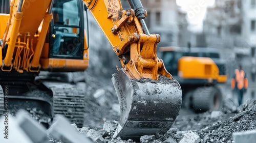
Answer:
[[[203, 32], [208, 47], [219, 48], [226, 60], [229, 78], [239, 64], [243, 66], [249, 87], [255, 86], [256, 0], [216, 0], [207, 9]], [[247, 98], [254, 98], [253, 88]]]

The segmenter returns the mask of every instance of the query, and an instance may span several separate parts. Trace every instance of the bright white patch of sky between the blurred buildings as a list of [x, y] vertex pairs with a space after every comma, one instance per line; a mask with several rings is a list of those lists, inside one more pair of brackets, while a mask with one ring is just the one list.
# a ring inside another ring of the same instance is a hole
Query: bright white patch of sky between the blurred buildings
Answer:
[[215, 0], [176, 0], [178, 6], [187, 12], [189, 30], [201, 32], [206, 8], [214, 6]]

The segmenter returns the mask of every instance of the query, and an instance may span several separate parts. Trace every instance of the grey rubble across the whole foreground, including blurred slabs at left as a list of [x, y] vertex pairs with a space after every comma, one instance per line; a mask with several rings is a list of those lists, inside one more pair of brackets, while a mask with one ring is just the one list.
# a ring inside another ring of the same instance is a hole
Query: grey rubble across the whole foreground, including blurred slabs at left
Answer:
[[[22, 115], [22, 116], [21, 116]], [[45, 142], [96, 142], [96, 143], [134, 143], [132, 139], [122, 140], [120, 137], [114, 138], [113, 134], [117, 128], [117, 121], [105, 121], [103, 129], [82, 127], [77, 128], [76, 124], [70, 124], [63, 117], [56, 117], [52, 126], [47, 130], [41, 128], [25, 113], [17, 114], [17, 123], [20, 130], [23, 126], [33, 126], [34, 131], [23, 131], [27, 134], [27, 139], [49, 140]], [[178, 117], [173, 128], [165, 134], [141, 136], [142, 143], [198, 143], [198, 142], [251, 142], [256, 138], [256, 100], [247, 100], [236, 112], [224, 113], [222, 111], [208, 111], [194, 116]], [[14, 124], [14, 123], [13, 123]], [[184, 127], [186, 126], [186, 127]], [[189, 130], [186, 130], [188, 129]], [[68, 131], [68, 132], [67, 132]], [[79, 133], [80, 132], [80, 133]], [[40, 138], [33, 138], [40, 134]], [[47, 135], [48, 134], [48, 135]], [[45, 136], [45, 137], [44, 137]], [[29, 142], [29, 141], [28, 141]], [[39, 141], [40, 142], [40, 141]]]

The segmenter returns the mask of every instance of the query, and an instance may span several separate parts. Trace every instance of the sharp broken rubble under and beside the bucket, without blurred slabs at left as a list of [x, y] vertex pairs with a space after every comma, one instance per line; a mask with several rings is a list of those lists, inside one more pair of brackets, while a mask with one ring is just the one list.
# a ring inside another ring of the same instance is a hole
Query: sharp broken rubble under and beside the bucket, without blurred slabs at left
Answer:
[[[232, 142], [233, 133], [256, 129], [256, 100], [247, 100], [237, 113], [207, 111], [194, 116], [178, 117], [166, 134], [144, 135], [140, 142]], [[77, 128], [95, 142], [135, 142], [131, 139], [113, 138], [118, 122], [106, 121], [103, 129]]]

